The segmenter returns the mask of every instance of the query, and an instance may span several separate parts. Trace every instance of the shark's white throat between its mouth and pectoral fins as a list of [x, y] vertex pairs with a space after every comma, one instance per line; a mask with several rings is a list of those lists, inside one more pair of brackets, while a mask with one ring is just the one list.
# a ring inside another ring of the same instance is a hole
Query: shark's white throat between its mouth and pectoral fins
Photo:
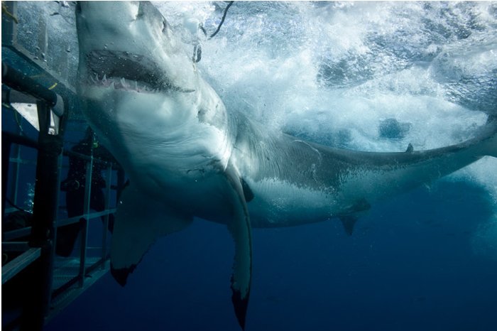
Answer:
[[102, 143], [133, 185], [152, 200], [192, 216], [226, 214], [216, 189], [231, 153], [226, 132], [196, 117], [172, 125], [165, 109], [186, 106], [164, 104], [167, 100], [154, 94], [95, 90], [98, 97], [89, 100], [87, 117], [105, 128], [99, 132]]

